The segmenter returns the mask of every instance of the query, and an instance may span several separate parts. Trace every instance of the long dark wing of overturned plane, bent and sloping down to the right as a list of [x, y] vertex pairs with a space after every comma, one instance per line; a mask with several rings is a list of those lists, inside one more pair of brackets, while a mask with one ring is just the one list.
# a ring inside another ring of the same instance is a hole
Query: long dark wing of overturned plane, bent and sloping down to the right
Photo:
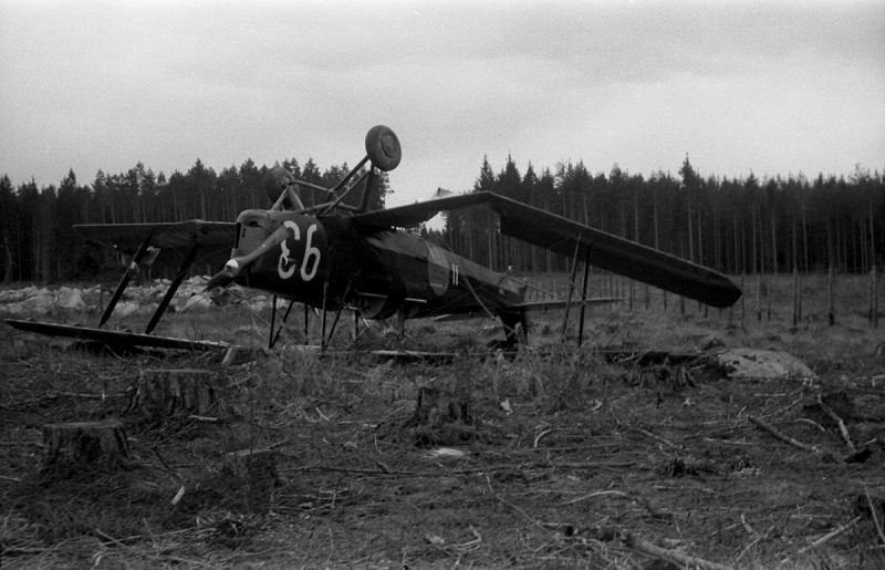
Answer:
[[409, 227], [440, 211], [477, 205], [488, 206], [500, 216], [501, 234], [506, 236], [566, 257], [577, 253], [579, 259], [598, 268], [712, 307], [730, 307], [740, 299], [740, 288], [722, 273], [493, 193], [464, 194], [369, 211], [354, 216], [353, 221], [364, 229]]

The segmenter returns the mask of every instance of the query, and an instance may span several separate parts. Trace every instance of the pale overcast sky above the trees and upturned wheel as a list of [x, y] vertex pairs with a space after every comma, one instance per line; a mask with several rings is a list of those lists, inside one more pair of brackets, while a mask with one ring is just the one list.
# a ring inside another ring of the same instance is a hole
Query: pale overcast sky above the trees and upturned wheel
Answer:
[[632, 174], [885, 169], [882, 1], [0, 0], [0, 174], [168, 176], [398, 135], [388, 204], [583, 160]]

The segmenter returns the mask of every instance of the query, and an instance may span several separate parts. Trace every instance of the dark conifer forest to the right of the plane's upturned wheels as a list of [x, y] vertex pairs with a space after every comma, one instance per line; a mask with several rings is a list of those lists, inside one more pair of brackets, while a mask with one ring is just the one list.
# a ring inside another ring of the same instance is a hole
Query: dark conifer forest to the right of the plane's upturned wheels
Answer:
[[[857, 166], [848, 177], [702, 177], [688, 156], [678, 176], [648, 177], [583, 162], [521, 174], [483, 159], [471, 191], [493, 191], [731, 274], [865, 272], [885, 253], [885, 178]], [[569, 260], [502, 238], [486, 211], [454, 211], [429, 239], [497, 270], [562, 272]]]

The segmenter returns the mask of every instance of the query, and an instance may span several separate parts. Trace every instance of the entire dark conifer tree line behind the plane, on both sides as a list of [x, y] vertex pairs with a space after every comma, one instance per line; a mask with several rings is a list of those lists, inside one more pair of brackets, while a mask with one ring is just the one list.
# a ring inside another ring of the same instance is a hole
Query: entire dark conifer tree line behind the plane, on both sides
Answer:
[[[282, 166], [308, 183], [332, 187], [347, 165], [325, 170], [309, 159]], [[75, 224], [205, 219], [231, 221], [244, 209], [268, 207], [267, 166], [251, 159], [216, 173], [199, 159], [186, 173], [155, 175], [142, 163], [125, 173], [102, 170], [81, 185], [73, 170], [58, 186], [33, 179], [13, 187], [0, 178], [0, 280], [52, 282], [95, 274], [104, 257], [71, 229]], [[392, 190], [379, 177], [372, 209]], [[845, 176], [788, 178], [702, 177], [688, 156], [674, 176], [648, 177], [615, 165], [591, 174], [583, 162], [521, 174], [511, 157], [496, 173], [483, 159], [469, 191], [494, 191], [565, 218], [677, 255], [731, 274], [834, 269], [865, 272], [885, 252], [885, 178], [860, 166]], [[301, 187], [305, 206], [329, 198]], [[345, 203], [357, 205], [358, 193]], [[492, 214], [448, 213], [446, 227], [421, 234], [497, 270], [561, 272], [569, 260], [502, 237]]]

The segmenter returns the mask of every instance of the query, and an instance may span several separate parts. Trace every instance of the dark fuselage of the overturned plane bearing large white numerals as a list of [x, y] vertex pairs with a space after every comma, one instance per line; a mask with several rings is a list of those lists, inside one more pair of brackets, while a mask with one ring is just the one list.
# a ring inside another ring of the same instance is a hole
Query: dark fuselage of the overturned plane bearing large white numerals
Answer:
[[246, 210], [232, 257], [258, 248], [280, 227], [288, 236], [237, 277], [244, 287], [317, 309], [355, 308], [384, 319], [491, 312], [522, 302], [524, 286], [404, 231], [358, 231], [348, 217]]

